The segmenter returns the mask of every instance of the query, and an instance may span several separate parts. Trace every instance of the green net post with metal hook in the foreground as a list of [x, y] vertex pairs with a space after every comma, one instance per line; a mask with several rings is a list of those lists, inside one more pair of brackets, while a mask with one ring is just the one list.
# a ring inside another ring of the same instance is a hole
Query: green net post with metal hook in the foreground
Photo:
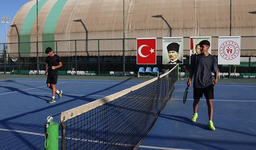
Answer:
[[44, 137], [45, 150], [59, 149], [59, 123], [53, 122], [53, 118], [50, 116], [44, 124]]

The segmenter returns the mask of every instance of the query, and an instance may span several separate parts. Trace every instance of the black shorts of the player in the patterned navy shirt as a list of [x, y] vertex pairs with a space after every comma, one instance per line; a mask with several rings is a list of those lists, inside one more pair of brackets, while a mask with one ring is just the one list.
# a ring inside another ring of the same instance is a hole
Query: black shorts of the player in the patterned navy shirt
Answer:
[[205, 99], [214, 99], [213, 96], [213, 87], [214, 85], [211, 84], [207, 87], [203, 87], [203, 88], [194, 88], [193, 90], [193, 98], [194, 99], [200, 99], [203, 97], [203, 94], [205, 95]]

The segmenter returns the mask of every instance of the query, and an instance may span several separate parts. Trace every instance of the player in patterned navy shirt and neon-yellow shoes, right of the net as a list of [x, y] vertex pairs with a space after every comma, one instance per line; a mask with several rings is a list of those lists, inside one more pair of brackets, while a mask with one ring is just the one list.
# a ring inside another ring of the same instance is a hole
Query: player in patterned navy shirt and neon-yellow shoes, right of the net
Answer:
[[[197, 54], [193, 57], [191, 64], [189, 65], [190, 73], [189, 79], [187, 82], [188, 86], [191, 86], [192, 76], [194, 74], [193, 81], [193, 116], [191, 118], [191, 122], [196, 122], [196, 118], [198, 117], [197, 108], [200, 98], [203, 97], [203, 94], [206, 98], [206, 103], [208, 106], [208, 115], [209, 122], [207, 123], [207, 127], [210, 130], [215, 130], [213, 126], [213, 87], [217, 84], [218, 81], [218, 66], [216, 58], [208, 53], [210, 42], [207, 40], [202, 40], [200, 43], [201, 54]], [[213, 81], [212, 72], [214, 72], [215, 80]]]

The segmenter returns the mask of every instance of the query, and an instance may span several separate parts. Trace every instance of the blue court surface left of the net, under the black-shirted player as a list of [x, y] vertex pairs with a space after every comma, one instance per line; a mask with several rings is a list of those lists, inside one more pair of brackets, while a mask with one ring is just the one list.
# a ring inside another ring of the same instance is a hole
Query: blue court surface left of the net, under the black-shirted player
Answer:
[[[142, 81], [58, 80], [62, 98], [49, 104], [52, 92], [46, 79], [0, 81], [0, 149], [44, 149], [44, 123], [48, 116], [89, 103]], [[60, 115], [54, 117], [59, 122]]]

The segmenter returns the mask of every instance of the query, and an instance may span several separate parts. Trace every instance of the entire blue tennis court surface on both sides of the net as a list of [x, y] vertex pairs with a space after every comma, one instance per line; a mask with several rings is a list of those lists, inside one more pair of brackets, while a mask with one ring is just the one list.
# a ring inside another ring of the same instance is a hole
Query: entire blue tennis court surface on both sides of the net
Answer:
[[[146, 78], [141, 78], [143, 81], [138, 81], [138, 78], [133, 78], [137, 81], [129, 78], [121, 78], [123, 81], [91, 79], [96, 78], [59, 79], [56, 87], [63, 90], [63, 97], [52, 104], [47, 103], [51, 98], [51, 90], [46, 87], [46, 79], [0, 80], [1, 149], [44, 149], [44, 123], [49, 115], [57, 115], [149, 80]], [[215, 131], [210, 131], [206, 127], [208, 115], [204, 98], [199, 102], [197, 121], [190, 122], [193, 113], [193, 88], [189, 89], [188, 100], [183, 104], [186, 81], [187, 78], [180, 79], [175, 84], [171, 100], [167, 102], [153, 129], [138, 150], [255, 148], [255, 79], [218, 80], [214, 89], [215, 101], [213, 101]], [[59, 120], [60, 115], [53, 117], [54, 122]]]

